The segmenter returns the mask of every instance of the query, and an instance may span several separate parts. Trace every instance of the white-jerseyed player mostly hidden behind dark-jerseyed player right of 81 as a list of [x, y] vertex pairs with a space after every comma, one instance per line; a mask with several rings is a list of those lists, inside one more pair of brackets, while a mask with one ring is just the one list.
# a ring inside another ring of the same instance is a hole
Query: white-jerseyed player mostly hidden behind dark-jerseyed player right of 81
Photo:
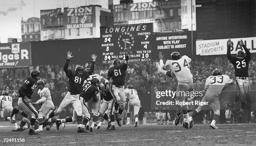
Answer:
[[[89, 70], [89, 68], [87, 68], [85, 70]], [[100, 77], [99, 74], [91, 74], [88, 77], [88, 79], [86, 79], [84, 81], [84, 84], [91, 83], [91, 80], [93, 78], [97, 78], [100, 81], [99, 82], [99, 86], [100, 86], [101, 91], [105, 90], [105, 86], [102, 83], [101, 77]], [[98, 89], [99, 89], [99, 87], [98, 87]], [[92, 99], [90, 99], [89, 101], [86, 102], [87, 107], [90, 109], [90, 113], [92, 113], [92, 115], [93, 115], [92, 116], [92, 123], [91, 123], [91, 127], [90, 127], [90, 131], [91, 132], [93, 132], [93, 129], [94, 129], [94, 126], [95, 126], [95, 122], [98, 119], [98, 113], [99, 113], [99, 109], [100, 109], [100, 92], [97, 94], [97, 99], [98, 99], [97, 102], [94, 102]], [[87, 122], [86, 129], [89, 129], [89, 126], [90, 126], [89, 123], [90, 122]]]

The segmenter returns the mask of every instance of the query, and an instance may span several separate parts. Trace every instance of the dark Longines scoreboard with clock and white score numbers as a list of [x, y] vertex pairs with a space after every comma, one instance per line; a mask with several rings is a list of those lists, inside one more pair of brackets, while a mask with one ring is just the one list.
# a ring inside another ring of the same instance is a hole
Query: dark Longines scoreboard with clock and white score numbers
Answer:
[[131, 61], [150, 60], [152, 31], [151, 23], [101, 27], [102, 63], [112, 62], [115, 58], [125, 59], [127, 51]]

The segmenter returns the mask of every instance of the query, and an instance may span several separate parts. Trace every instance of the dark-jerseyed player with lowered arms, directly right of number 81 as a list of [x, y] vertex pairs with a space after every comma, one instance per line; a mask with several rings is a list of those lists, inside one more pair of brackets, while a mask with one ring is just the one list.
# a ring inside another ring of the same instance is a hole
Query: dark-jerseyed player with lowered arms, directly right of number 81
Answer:
[[[83, 98], [83, 104], [86, 107], [84, 119], [82, 121], [82, 129], [79, 129], [79, 133], [87, 133], [87, 131], [84, 130], [85, 125], [87, 122], [91, 119], [91, 114], [89, 112], [88, 106], [85, 104], [87, 101], [89, 101], [91, 98], [94, 102], [99, 100], [97, 98], [97, 94], [99, 93], [98, 86], [99, 86], [99, 79], [92, 78], [91, 83], [87, 82], [83, 85], [82, 91], [80, 93], [80, 98]], [[92, 130], [91, 130], [92, 131]]]

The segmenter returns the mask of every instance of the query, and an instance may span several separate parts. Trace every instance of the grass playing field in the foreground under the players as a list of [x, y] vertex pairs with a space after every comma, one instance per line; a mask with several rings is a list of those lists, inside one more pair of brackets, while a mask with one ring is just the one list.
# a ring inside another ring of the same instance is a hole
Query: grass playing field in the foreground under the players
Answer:
[[[256, 124], [217, 124], [218, 130], [207, 124], [195, 124], [192, 129], [184, 129], [182, 125], [146, 124], [122, 127], [115, 131], [107, 131], [106, 125], [87, 134], [77, 134], [76, 124], [66, 124], [65, 129], [40, 132], [30, 136], [28, 130], [12, 132], [9, 122], [0, 122], [1, 146], [212, 146], [212, 145], [256, 145]], [[4, 139], [25, 139], [25, 142], [4, 142]]]

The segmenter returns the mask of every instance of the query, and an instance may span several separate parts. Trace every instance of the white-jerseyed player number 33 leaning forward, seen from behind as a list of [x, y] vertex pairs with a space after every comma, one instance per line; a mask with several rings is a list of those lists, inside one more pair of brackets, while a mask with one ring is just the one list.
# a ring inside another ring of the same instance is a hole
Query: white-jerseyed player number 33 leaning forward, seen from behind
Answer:
[[[205, 102], [205, 104], [210, 103], [212, 106], [212, 110], [214, 112], [213, 120], [210, 124], [210, 127], [213, 129], [218, 129], [217, 126], [215, 126], [216, 121], [219, 119], [220, 116], [220, 100], [219, 95], [222, 89], [227, 84], [233, 84], [235, 83], [235, 80], [230, 79], [228, 75], [220, 75], [220, 70], [216, 69], [212, 72], [212, 76], [208, 77], [205, 81], [205, 89], [206, 93], [205, 96], [202, 98], [201, 103]], [[194, 118], [197, 113], [202, 111], [202, 107], [205, 105], [200, 105], [197, 107], [195, 111], [191, 114], [190, 118]]]

